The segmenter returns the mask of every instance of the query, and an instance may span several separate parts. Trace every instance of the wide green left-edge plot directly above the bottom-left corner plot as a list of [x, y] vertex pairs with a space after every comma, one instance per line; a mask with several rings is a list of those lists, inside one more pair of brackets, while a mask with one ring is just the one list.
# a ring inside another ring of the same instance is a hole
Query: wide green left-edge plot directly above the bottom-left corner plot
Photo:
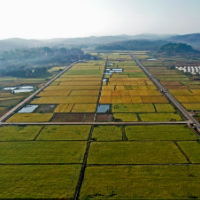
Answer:
[[82, 163], [86, 142], [2, 142], [1, 164]]

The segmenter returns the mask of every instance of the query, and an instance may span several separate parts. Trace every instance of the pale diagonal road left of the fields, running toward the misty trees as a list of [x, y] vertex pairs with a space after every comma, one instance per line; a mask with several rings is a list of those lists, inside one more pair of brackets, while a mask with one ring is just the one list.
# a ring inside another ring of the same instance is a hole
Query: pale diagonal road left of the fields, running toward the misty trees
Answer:
[[[75, 62], [76, 63], [76, 62]], [[5, 121], [9, 116], [11, 116], [16, 110], [18, 110], [20, 107], [22, 107], [24, 104], [31, 101], [39, 92], [41, 92], [44, 88], [49, 86], [53, 81], [55, 81], [59, 76], [61, 76], [63, 73], [65, 73], [69, 68], [71, 68], [75, 63], [72, 63], [71, 65], [67, 66], [64, 70], [62, 70], [59, 74], [54, 76], [50, 81], [45, 83], [41, 88], [39, 88], [37, 91], [35, 91], [33, 94], [28, 96], [26, 99], [24, 99], [21, 103], [17, 104], [14, 108], [9, 110], [5, 115], [3, 115], [0, 118], [0, 123]]]

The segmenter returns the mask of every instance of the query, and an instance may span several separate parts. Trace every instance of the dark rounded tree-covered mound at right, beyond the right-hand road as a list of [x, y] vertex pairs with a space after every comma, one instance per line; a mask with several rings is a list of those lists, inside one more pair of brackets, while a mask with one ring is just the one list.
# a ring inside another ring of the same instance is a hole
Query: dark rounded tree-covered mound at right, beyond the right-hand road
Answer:
[[184, 43], [168, 43], [161, 46], [158, 53], [174, 55], [177, 53], [199, 53], [199, 51], [194, 50], [190, 45]]

